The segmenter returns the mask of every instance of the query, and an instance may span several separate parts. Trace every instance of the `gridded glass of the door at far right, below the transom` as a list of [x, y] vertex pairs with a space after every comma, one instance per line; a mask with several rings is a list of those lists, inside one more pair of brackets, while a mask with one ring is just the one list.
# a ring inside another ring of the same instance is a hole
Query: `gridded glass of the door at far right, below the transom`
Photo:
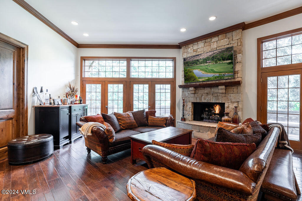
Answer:
[[290, 140], [300, 136], [300, 74], [267, 77], [267, 122], [281, 123]]

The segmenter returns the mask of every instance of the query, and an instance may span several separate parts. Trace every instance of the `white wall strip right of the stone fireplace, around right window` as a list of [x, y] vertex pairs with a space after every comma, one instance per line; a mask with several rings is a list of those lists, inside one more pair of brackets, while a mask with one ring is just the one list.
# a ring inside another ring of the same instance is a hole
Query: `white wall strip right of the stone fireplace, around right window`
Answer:
[[256, 119], [257, 38], [302, 27], [302, 14], [244, 30], [243, 37], [243, 120]]

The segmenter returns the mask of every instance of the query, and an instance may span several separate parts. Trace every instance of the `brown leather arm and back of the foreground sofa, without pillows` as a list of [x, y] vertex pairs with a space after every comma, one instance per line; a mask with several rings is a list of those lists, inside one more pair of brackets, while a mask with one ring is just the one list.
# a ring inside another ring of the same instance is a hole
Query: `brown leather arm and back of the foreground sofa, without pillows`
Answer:
[[142, 153], [149, 168], [163, 164], [193, 179], [198, 200], [257, 200], [279, 132], [278, 127], [272, 127], [239, 170], [197, 161], [155, 145], [143, 147]]

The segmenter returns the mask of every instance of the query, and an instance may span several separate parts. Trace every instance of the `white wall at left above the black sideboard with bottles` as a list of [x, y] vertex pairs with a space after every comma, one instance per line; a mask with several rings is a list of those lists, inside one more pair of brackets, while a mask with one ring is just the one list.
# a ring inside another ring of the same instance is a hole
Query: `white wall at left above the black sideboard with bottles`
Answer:
[[28, 45], [28, 134], [34, 134], [33, 87], [63, 95], [77, 74], [77, 48], [11, 0], [0, 1], [0, 33]]

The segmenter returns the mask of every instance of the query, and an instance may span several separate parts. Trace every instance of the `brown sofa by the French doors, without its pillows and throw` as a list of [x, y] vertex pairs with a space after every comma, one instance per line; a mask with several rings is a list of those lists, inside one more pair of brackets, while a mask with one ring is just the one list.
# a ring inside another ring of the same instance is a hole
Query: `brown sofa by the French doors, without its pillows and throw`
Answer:
[[[159, 117], [159, 116], [157, 116]], [[172, 117], [166, 118], [166, 127], [172, 126]], [[80, 121], [76, 122], [79, 127], [82, 127], [88, 121], [84, 117], [80, 118]], [[145, 133], [152, 130], [161, 129], [162, 127], [149, 127], [141, 126], [133, 129], [120, 130], [115, 133], [115, 140], [113, 143], [108, 142], [107, 135], [103, 128], [96, 126], [92, 128], [92, 135], [85, 137], [85, 146], [87, 147], [87, 152], [90, 153], [91, 150], [102, 156], [103, 163], [107, 162], [107, 156], [130, 149], [130, 137], [131, 135], [136, 135], [140, 133]]]

